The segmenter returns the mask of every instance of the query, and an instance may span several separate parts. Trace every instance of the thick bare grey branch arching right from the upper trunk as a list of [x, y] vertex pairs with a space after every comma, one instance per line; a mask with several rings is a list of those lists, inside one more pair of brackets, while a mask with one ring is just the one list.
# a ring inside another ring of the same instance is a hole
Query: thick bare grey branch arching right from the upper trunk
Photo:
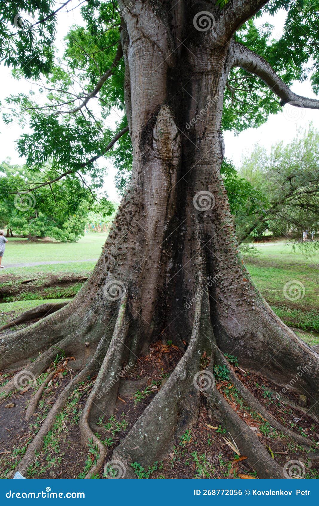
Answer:
[[302, 97], [292, 92], [266, 60], [239, 43], [234, 45], [233, 67], [241, 67], [260, 77], [282, 99], [280, 105], [291, 102], [291, 105], [296, 107], [319, 109], [319, 100]]

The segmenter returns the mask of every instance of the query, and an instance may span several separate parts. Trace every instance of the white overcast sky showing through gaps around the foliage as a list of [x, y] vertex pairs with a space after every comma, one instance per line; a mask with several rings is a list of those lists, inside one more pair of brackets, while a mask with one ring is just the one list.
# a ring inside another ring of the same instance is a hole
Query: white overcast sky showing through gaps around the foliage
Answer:
[[[81, 0], [73, 0], [72, 7], [74, 8]], [[262, 16], [259, 18], [258, 23], [262, 24], [269, 21], [274, 25], [272, 36], [279, 38], [283, 30], [285, 22], [285, 12], [279, 12], [275, 17]], [[58, 15], [58, 33], [56, 45], [58, 47], [58, 54], [62, 56], [64, 47], [64, 37], [72, 24], [83, 24], [79, 9], [74, 9], [71, 12], [60, 12]], [[11, 71], [4, 66], [1, 66], [1, 85], [0, 85], [0, 100], [3, 105], [5, 97], [10, 94], [16, 94], [21, 91], [27, 92], [31, 86], [24, 80], [17, 81], [11, 76]], [[32, 89], [36, 90], [36, 88]], [[293, 83], [292, 90], [309, 98], [315, 98], [312, 93], [310, 83], [295, 82]], [[117, 119], [117, 118], [115, 118]], [[297, 129], [300, 127], [306, 128], [310, 121], [316, 128], [319, 129], [319, 111], [312, 109], [299, 109], [289, 105], [285, 105], [283, 110], [277, 115], [269, 116], [267, 122], [260, 126], [258, 129], [248, 129], [245, 132], [235, 136], [232, 132], [224, 133], [225, 141], [225, 156], [235, 163], [238, 167], [241, 163], [243, 153], [250, 152], [255, 144], [264, 146], [270, 150], [271, 146], [278, 141], [288, 143], [296, 135]], [[1, 139], [1, 160], [7, 157], [11, 158], [11, 163], [24, 163], [23, 158], [19, 158], [16, 151], [15, 140], [21, 135], [22, 130], [19, 125], [13, 123], [8, 127], [0, 119], [0, 139]], [[114, 185], [115, 171], [112, 165], [108, 165], [108, 174], [105, 178], [105, 190], [108, 192], [111, 200], [119, 200]]]

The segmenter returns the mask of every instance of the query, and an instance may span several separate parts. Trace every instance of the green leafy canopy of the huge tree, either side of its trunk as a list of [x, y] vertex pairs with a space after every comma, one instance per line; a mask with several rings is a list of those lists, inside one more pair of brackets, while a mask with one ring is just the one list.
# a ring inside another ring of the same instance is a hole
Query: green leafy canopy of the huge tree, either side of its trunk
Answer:
[[[222, 8], [224, 3], [219, 4]], [[32, 173], [40, 177], [41, 167], [50, 163], [52, 173], [68, 172], [72, 180], [79, 171], [97, 190], [105, 171], [97, 159], [111, 157], [118, 171], [117, 186], [123, 190], [131, 167], [129, 136], [123, 136], [113, 150], [106, 152], [114, 135], [127, 125], [123, 58], [99, 93], [85, 107], [71, 112], [111, 68], [120, 38], [118, 4], [101, 0], [81, 3], [85, 26], [70, 29], [60, 59], [54, 57], [54, 37], [57, 20], [68, 2], [63, 8], [60, 5], [59, 13], [54, 8], [49, 0], [1, 4], [0, 59], [15, 69], [17, 79], [32, 78], [38, 88], [36, 93], [8, 97], [3, 104], [4, 119], [8, 123], [15, 118], [25, 120], [31, 126], [32, 132], [18, 140], [18, 150]], [[276, 16], [280, 9], [286, 11], [287, 19], [281, 37], [274, 40], [271, 25], [267, 22], [257, 27], [255, 21], [264, 13]], [[263, 56], [287, 85], [311, 75], [312, 88], [318, 92], [318, 10], [319, 0], [272, 0], [238, 30], [235, 38]], [[31, 13], [31, 21], [25, 13]], [[242, 69], [232, 70], [225, 91], [223, 130], [240, 132], [257, 127], [280, 109], [279, 101], [261, 79]], [[45, 178], [48, 180], [52, 173]]]

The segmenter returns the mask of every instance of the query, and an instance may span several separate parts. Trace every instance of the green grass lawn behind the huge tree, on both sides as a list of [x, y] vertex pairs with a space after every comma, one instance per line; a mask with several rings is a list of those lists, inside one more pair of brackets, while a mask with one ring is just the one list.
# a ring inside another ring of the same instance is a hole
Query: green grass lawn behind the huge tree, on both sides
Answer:
[[[9, 238], [10, 244], [3, 260], [3, 264], [8, 268], [1, 272], [0, 281], [2, 277], [5, 281], [5, 274], [14, 274], [24, 279], [37, 273], [44, 275], [75, 273], [87, 276], [92, 272], [96, 261], [11, 269], [9, 266], [42, 261], [97, 260], [106, 237], [107, 234], [104, 233], [89, 233], [76, 243], [27, 242], [24, 239]], [[286, 241], [256, 243], [255, 246], [260, 254], [256, 257], [244, 255], [244, 260], [253, 282], [268, 304], [287, 325], [304, 331], [319, 332], [319, 252], [306, 257], [300, 251], [294, 251], [292, 244]], [[302, 297], [287, 300], [284, 286], [291, 281], [302, 283], [304, 286]], [[61, 297], [69, 297], [67, 292], [59, 289], [48, 288], [44, 291], [48, 291], [48, 298], [59, 297], [60, 292]], [[44, 292], [42, 297], [45, 297]], [[16, 311], [16, 314], [20, 314], [42, 303], [42, 300], [25, 300], [2, 304], [2, 315], [8, 312], [12, 317]], [[309, 344], [310, 342], [311, 344], [319, 342], [318, 336], [310, 335]]]

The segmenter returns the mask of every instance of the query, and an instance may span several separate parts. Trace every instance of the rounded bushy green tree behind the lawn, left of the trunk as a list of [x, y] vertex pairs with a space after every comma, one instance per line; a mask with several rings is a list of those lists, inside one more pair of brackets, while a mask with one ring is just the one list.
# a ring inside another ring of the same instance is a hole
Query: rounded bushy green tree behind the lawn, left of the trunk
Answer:
[[[42, 185], [26, 167], [0, 164], [0, 213], [2, 227], [37, 240], [49, 236], [73, 242], [84, 235], [89, 208], [103, 209], [101, 216], [114, 214], [114, 206], [84, 188], [80, 181], [66, 180]], [[30, 187], [35, 187], [29, 191]]]

